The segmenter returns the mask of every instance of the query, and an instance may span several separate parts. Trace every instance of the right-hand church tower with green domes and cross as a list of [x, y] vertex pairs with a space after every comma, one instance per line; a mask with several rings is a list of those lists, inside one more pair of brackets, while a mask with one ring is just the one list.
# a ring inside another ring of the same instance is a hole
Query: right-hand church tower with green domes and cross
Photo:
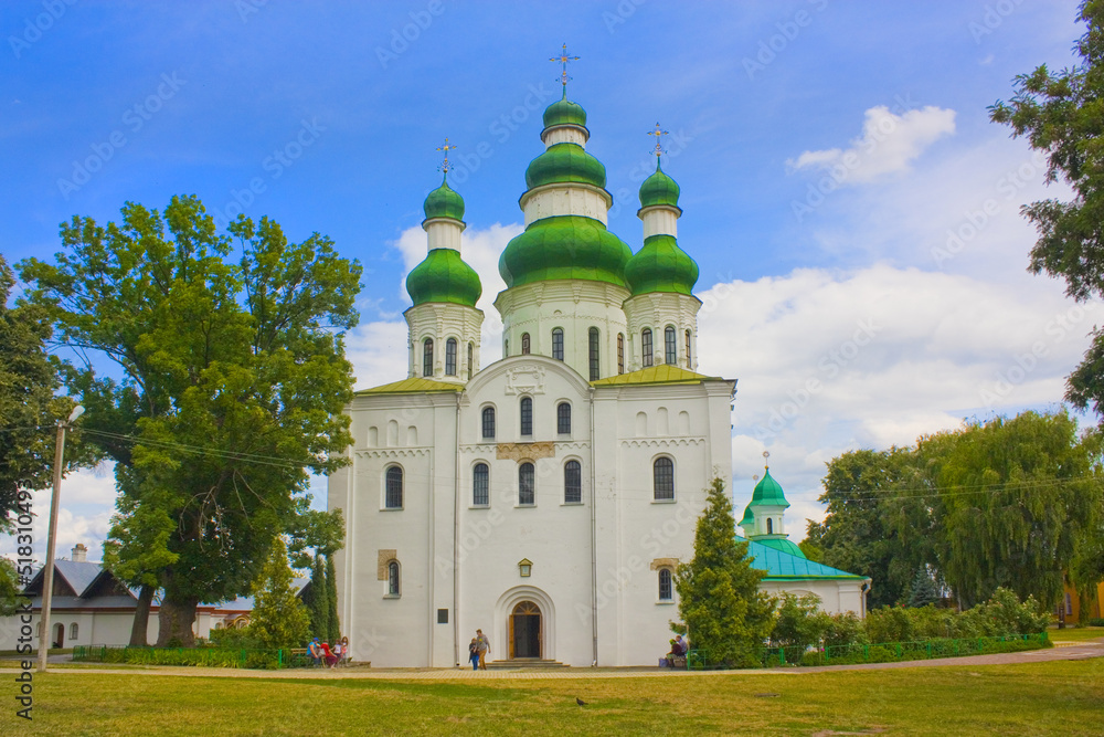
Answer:
[[631, 368], [669, 364], [687, 370], [698, 367], [698, 309], [701, 301], [692, 291], [698, 282], [698, 264], [679, 248], [679, 186], [664, 171], [659, 139], [666, 135], [659, 124], [656, 137], [656, 171], [640, 186], [644, 248], [628, 262], [625, 277], [631, 296], [625, 315], [631, 336]]

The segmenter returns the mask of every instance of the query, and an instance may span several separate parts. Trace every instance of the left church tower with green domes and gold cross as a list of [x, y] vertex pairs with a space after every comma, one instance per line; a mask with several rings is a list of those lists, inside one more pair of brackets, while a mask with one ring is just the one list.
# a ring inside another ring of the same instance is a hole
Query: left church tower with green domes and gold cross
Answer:
[[422, 229], [428, 240], [425, 261], [406, 276], [406, 292], [414, 305], [403, 316], [410, 327], [408, 378], [465, 383], [479, 370], [482, 294], [479, 275], [460, 259], [464, 199], [448, 186], [445, 139], [440, 187], [425, 198]]

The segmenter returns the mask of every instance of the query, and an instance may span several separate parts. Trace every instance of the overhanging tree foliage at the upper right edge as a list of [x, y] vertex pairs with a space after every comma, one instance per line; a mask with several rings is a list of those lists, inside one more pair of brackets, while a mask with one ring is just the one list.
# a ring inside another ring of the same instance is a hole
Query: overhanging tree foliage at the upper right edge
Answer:
[[[1048, 181], [1073, 188], [1073, 199], [1032, 202], [1022, 213], [1039, 232], [1030, 270], [1063, 277], [1066, 294], [1087, 301], [1104, 297], [1104, 0], [1082, 2], [1078, 19], [1087, 27], [1074, 46], [1079, 63], [1017, 76], [1015, 95], [989, 116], [1045, 154]], [[1104, 329], [1070, 376], [1066, 398], [1104, 419]]]

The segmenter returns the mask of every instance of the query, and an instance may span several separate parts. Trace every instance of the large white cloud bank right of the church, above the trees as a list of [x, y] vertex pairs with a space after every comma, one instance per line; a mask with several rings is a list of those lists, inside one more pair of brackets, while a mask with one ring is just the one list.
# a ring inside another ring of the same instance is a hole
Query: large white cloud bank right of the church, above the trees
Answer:
[[827, 461], [1060, 401], [1104, 314], [1027, 274], [996, 284], [884, 264], [802, 269], [698, 296], [702, 370], [739, 379], [737, 514], [769, 450], [795, 540], [804, 518], [824, 516], [816, 497]]

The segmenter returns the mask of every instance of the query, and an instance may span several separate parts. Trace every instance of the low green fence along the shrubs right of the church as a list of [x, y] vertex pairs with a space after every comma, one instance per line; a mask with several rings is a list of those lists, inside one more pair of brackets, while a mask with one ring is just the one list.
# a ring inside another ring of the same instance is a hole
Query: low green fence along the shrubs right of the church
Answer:
[[[758, 651], [762, 667], [778, 665], [841, 665], [850, 663], [889, 663], [894, 661], [931, 660], [960, 655], [1037, 650], [1048, 646], [1045, 632], [1038, 634], [1006, 634], [988, 638], [933, 639], [912, 642], [883, 642], [875, 644], [828, 645], [821, 647], [764, 647]], [[711, 662], [708, 654], [691, 650], [687, 653], [687, 668], [701, 671], [725, 667]]]

